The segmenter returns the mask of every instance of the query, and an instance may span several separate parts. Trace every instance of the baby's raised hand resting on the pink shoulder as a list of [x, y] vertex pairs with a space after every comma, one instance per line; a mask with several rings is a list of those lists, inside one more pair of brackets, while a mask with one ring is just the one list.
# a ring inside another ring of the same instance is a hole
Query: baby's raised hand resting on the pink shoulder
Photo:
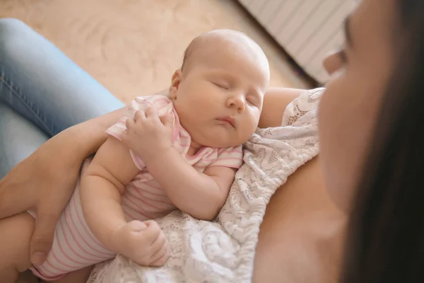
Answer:
[[155, 108], [137, 111], [126, 120], [126, 129], [122, 142], [145, 163], [172, 148], [172, 117], [159, 117]]

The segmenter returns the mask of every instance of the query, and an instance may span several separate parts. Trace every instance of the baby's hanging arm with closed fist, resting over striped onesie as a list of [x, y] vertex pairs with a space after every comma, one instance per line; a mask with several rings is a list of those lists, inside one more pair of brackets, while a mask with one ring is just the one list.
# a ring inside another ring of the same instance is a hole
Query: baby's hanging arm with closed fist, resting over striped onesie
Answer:
[[167, 243], [155, 221], [126, 222], [121, 207], [124, 187], [139, 172], [129, 149], [110, 137], [81, 178], [81, 205], [90, 231], [110, 250], [141, 265], [160, 266]]

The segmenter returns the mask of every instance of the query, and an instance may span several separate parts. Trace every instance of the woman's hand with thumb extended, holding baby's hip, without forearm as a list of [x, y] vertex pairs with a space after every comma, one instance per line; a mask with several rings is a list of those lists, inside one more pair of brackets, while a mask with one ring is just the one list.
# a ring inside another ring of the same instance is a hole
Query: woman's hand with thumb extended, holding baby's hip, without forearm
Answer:
[[49, 253], [56, 222], [73, 192], [80, 164], [66, 160], [46, 143], [0, 180], [0, 219], [27, 210], [37, 214], [30, 243], [34, 265], [44, 262]]

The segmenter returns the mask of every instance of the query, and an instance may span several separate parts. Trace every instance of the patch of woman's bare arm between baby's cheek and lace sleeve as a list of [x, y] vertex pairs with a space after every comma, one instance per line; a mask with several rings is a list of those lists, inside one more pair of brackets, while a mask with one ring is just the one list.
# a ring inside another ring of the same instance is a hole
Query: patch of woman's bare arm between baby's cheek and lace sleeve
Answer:
[[304, 90], [297, 88], [268, 88], [264, 97], [260, 128], [281, 126], [284, 110]]

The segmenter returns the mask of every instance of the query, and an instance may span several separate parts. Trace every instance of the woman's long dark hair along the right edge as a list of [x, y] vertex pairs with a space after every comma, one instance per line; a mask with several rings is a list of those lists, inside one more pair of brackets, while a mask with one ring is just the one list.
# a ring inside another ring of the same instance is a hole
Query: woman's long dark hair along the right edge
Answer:
[[395, 2], [399, 60], [353, 204], [343, 283], [424, 282], [424, 0]]

